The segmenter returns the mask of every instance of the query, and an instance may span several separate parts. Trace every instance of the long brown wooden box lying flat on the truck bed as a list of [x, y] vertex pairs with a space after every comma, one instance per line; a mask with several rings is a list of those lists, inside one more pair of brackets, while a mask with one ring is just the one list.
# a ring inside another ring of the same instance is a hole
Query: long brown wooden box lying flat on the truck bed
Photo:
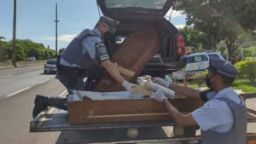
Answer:
[[[192, 112], [202, 106], [201, 100], [172, 99], [180, 112]], [[68, 101], [70, 124], [172, 120], [163, 102], [145, 98], [137, 100]]]

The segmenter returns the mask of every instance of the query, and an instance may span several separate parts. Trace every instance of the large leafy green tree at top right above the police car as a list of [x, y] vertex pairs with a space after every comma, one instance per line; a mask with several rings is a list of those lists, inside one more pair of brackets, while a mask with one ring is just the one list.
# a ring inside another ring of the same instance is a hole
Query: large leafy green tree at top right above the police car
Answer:
[[229, 55], [256, 28], [255, 0], [177, 0], [175, 9], [183, 10], [187, 25], [203, 32], [212, 49], [224, 39]]

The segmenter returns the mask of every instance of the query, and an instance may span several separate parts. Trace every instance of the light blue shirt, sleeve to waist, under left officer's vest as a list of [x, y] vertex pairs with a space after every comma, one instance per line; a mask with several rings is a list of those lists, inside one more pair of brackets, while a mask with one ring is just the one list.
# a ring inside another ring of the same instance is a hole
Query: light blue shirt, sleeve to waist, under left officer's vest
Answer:
[[[95, 59], [96, 58], [96, 43], [101, 43], [102, 42], [102, 35], [101, 32], [99, 32], [99, 30], [97, 28], [91, 30], [93, 32], [95, 32], [97, 35], [99, 35], [100, 37], [97, 36], [90, 36], [90, 37], [86, 37], [84, 38], [84, 40], [82, 41], [82, 53], [85, 54], [86, 52], [89, 53], [90, 58], [91, 59]], [[60, 60], [60, 63], [62, 66], [73, 66], [73, 67], [79, 67], [80, 66], [76, 65], [76, 64], [69, 64], [66, 60], [62, 59]]]

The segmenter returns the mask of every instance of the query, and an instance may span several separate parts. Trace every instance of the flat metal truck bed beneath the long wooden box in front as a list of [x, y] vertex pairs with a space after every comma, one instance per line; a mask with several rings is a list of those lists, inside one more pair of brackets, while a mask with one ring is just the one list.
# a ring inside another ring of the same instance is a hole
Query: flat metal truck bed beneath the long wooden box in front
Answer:
[[[256, 123], [253, 109], [247, 108], [247, 123]], [[164, 134], [163, 127], [172, 127], [172, 135]], [[179, 127], [172, 120], [71, 125], [68, 113], [55, 108], [41, 112], [30, 122], [30, 132], [61, 131], [56, 143], [200, 143], [201, 136], [195, 135], [198, 129]], [[255, 141], [256, 133], [247, 133], [247, 144]]]

